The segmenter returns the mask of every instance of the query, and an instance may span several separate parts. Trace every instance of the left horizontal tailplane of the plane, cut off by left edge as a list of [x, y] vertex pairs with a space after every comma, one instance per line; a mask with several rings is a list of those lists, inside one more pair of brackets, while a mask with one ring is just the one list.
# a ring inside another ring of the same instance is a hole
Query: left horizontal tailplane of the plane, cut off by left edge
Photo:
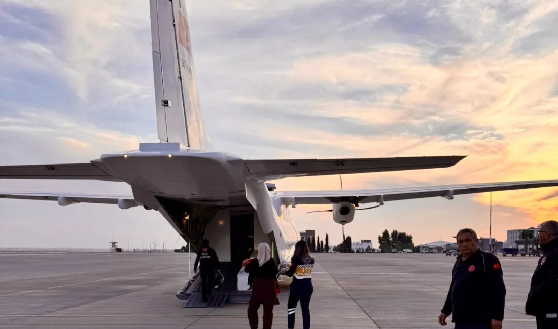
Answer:
[[99, 168], [102, 163], [0, 166], [0, 179], [93, 179], [121, 181]]

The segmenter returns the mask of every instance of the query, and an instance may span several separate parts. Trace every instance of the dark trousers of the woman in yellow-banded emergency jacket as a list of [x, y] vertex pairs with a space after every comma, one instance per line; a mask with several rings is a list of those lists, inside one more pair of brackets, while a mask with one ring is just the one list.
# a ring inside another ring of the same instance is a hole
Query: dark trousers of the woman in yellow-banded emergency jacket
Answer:
[[300, 301], [302, 310], [302, 328], [310, 329], [310, 298], [314, 292], [312, 279], [292, 279], [291, 291], [287, 301], [287, 328], [295, 327], [296, 305]]

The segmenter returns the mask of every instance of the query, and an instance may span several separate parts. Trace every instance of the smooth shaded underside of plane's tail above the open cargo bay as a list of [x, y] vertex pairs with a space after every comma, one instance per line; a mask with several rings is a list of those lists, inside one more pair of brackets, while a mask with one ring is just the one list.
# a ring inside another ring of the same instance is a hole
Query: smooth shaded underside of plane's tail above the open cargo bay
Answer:
[[244, 195], [244, 183], [226, 161], [204, 156], [110, 156], [102, 162], [126, 183], [165, 197], [199, 199]]

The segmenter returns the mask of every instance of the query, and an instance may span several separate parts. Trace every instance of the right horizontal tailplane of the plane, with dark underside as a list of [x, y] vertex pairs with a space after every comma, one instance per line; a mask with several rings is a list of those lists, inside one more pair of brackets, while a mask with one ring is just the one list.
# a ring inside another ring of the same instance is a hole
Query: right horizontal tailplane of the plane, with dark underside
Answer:
[[448, 168], [465, 156], [416, 156], [407, 158], [244, 160], [248, 171], [262, 180], [289, 176], [375, 173], [379, 171]]

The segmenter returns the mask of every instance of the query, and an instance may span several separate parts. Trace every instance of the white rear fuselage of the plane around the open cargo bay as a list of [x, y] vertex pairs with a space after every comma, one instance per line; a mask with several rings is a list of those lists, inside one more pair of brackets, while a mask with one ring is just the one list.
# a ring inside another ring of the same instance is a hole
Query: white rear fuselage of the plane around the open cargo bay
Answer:
[[[253, 213], [254, 223], [247, 223], [254, 227], [252, 247], [261, 242], [273, 245], [283, 266], [300, 240], [290, 205], [270, 195], [266, 183], [253, 178], [238, 156], [153, 143], [140, 144], [140, 150], [104, 154], [93, 163], [129, 184], [138, 203], [160, 212], [194, 247], [202, 237], [210, 237], [220, 247], [221, 259], [228, 259], [227, 242], [235, 234], [224, 228], [226, 219], [238, 212]], [[208, 218], [196, 224], [205, 226], [201, 236], [193, 237], [185, 232], [186, 224], [196, 220], [193, 216], [200, 211], [208, 213]]]

